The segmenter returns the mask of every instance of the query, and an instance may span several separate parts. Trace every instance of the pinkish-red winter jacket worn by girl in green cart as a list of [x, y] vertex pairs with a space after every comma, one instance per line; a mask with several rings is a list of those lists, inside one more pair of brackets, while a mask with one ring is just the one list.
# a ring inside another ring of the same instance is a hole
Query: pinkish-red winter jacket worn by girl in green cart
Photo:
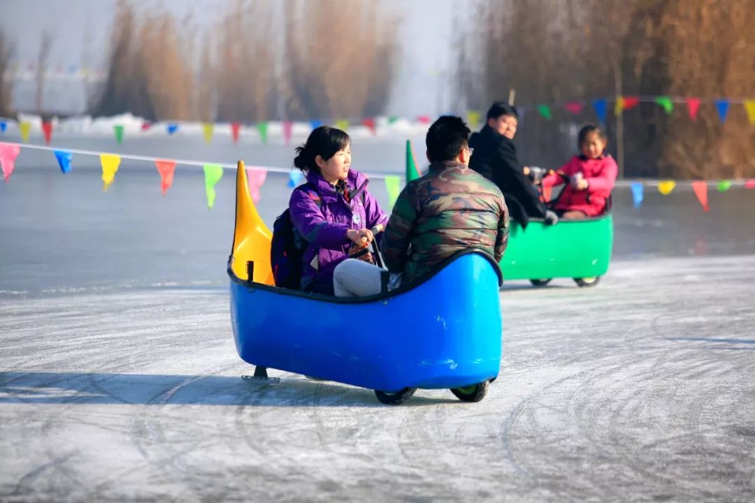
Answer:
[[[610, 155], [597, 159], [575, 155], [560, 167], [559, 171], [566, 176], [572, 176], [581, 171], [582, 176], [587, 180], [587, 189], [577, 190], [567, 183], [554, 204], [556, 210], [577, 210], [587, 216], [597, 216], [606, 210], [606, 200], [611, 195], [618, 174], [616, 161]], [[559, 186], [565, 181], [558, 172], [551, 173], [543, 179], [543, 186]]]

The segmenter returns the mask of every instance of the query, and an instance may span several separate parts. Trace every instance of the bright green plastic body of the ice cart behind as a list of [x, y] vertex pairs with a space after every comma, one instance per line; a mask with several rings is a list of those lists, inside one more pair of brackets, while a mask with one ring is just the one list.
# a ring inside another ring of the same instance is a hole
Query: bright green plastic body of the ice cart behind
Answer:
[[504, 280], [591, 278], [609, 269], [613, 216], [559, 220], [544, 225], [531, 220], [526, 230], [512, 222], [509, 244], [501, 259]]

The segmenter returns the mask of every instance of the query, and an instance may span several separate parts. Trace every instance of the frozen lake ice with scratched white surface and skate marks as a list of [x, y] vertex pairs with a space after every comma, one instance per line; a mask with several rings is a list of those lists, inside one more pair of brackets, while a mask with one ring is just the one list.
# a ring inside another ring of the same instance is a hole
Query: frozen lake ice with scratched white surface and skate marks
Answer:
[[755, 500], [753, 191], [703, 213], [691, 191], [634, 210], [618, 190], [598, 287], [504, 285], [485, 400], [391, 407], [239, 379], [232, 173], [208, 211], [195, 171], [162, 198], [153, 167], [102, 192], [24, 155], [0, 184], [0, 501]]

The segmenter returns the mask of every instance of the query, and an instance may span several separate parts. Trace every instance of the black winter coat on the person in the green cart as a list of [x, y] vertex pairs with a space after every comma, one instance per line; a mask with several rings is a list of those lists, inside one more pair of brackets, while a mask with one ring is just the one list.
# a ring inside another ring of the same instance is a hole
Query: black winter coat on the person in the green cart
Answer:
[[532, 180], [525, 176], [511, 140], [485, 125], [470, 136], [469, 144], [474, 149], [470, 168], [501, 189], [512, 219], [524, 228], [530, 218], [544, 218], [547, 207]]

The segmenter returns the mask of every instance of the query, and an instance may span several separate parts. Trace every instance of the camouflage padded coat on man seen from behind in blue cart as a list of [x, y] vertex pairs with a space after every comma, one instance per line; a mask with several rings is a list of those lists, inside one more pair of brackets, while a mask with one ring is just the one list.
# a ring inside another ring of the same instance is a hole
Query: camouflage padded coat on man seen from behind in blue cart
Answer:
[[482, 247], [501, 260], [509, 212], [495, 183], [458, 161], [430, 164], [396, 200], [383, 238], [391, 272], [414, 281], [459, 250]]

